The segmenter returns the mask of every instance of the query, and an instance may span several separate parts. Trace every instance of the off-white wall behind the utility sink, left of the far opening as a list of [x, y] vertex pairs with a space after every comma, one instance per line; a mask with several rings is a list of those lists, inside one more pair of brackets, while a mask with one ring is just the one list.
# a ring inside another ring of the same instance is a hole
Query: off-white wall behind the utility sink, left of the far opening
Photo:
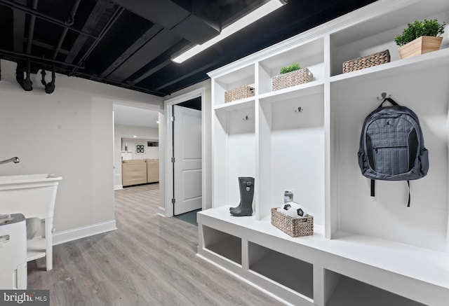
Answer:
[[0, 175], [62, 176], [54, 217], [60, 237], [76, 237], [79, 228], [90, 235], [98, 224], [115, 227], [112, 104], [159, 107], [162, 99], [60, 74], [53, 94], [43, 91], [36, 75], [34, 90], [25, 92], [15, 81], [15, 66], [1, 60], [0, 160], [18, 156], [20, 163], [0, 165]]

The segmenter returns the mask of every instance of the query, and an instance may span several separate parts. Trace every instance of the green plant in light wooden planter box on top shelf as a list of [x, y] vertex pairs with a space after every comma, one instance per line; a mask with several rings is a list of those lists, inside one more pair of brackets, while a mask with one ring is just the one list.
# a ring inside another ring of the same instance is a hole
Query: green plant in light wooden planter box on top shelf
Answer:
[[439, 35], [444, 33], [445, 25], [445, 22], [440, 24], [436, 19], [409, 22], [402, 34], [394, 37], [394, 41], [400, 47], [398, 51], [401, 58], [438, 50], [443, 40]]

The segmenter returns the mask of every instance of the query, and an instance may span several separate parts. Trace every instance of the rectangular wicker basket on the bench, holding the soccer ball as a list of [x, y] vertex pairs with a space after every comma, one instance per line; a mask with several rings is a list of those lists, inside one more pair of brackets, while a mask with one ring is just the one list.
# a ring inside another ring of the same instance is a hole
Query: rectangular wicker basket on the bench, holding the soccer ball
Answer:
[[291, 237], [314, 235], [314, 217], [306, 215], [304, 218], [292, 218], [272, 208], [272, 225]]

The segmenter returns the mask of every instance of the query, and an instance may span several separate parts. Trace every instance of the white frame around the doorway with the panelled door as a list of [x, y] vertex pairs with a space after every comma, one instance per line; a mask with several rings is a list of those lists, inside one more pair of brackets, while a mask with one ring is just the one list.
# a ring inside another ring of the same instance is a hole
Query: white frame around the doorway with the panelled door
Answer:
[[[205, 162], [205, 120], [204, 120], [204, 101], [206, 99], [206, 88], [202, 87], [196, 90], [192, 90], [191, 92], [187, 92], [183, 95], [173, 97], [171, 99], [167, 99], [164, 102], [164, 113], [165, 113], [165, 125], [166, 125], [166, 141], [165, 141], [165, 152], [166, 158], [164, 162], [164, 172], [165, 172], [165, 216], [171, 217], [173, 216], [173, 203], [171, 199], [173, 198], [173, 163], [171, 162], [171, 155], [173, 152], [173, 125], [172, 125], [172, 117], [173, 117], [173, 105], [180, 104], [182, 102], [189, 101], [191, 99], [195, 99], [201, 97], [201, 168], [203, 169], [201, 174], [201, 179], [203, 181], [206, 179], [206, 174], [204, 168], [206, 167]], [[203, 195], [201, 200], [201, 207], [205, 209], [206, 203], [204, 199], [204, 184], [201, 184], [201, 195]]]

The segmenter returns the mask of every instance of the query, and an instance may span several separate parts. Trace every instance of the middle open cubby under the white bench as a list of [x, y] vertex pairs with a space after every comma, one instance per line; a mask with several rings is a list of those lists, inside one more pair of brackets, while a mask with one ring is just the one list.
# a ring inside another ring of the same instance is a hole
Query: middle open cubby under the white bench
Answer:
[[251, 271], [313, 299], [313, 265], [264, 246], [248, 243]]

